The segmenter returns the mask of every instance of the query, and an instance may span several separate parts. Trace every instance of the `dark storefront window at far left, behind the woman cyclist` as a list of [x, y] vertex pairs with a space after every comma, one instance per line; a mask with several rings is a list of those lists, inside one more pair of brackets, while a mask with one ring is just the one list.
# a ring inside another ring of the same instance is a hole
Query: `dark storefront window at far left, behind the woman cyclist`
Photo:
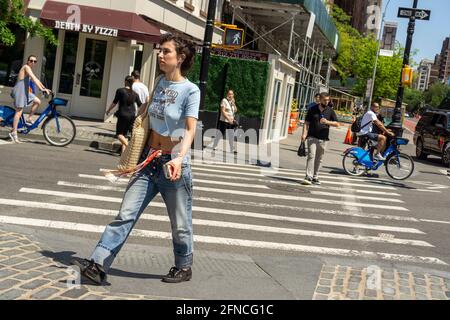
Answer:
[[16, 36], [12, 47], [0, 43], [0, 85], [13, 87], [23, 64], [26, 33], [21, 28], [8, 26]]

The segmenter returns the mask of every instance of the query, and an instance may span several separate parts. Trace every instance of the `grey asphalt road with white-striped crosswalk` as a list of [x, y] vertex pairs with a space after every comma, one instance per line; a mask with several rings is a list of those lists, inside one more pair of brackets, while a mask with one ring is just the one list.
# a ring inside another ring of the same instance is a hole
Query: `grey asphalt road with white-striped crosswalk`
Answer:
[[[280, 145], [278, 172], [194, 161], [196, 251], [450, 271], [450, 179], [439, 159], [416, 162], [405, 182], [383, 168], [379, 177], [349, 177], [341, 169], [345, 130], [333, 131], [321, 186], [299, 183], [305, 160], [296, 155], [298, 132]], [[404, 151], [413, 154], [414, 146]], [[72, 250], [87, 254], [120, 207], [125, 182], [111, 184], [100, 172], [114, 168], [117, 155], [0, 140], [0, 159], [0, 224], [80, 239]], [[171, 248], [162, 199], [144, 214], [128, 243]]]

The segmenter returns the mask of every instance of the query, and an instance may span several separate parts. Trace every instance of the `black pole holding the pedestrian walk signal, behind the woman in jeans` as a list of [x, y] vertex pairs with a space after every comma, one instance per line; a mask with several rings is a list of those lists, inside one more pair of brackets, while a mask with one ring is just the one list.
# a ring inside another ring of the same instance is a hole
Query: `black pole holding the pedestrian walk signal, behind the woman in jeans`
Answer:
[[208, 16], [206, 18], [205, 38], [203, 40], [202, 62], [200, 66], [200, 110], [205, 109], [206, 85], [208, 82], [209, 58], [211, 56], [212, 37], [214, 33], [214, 18], [217, 0], [209, 0]]

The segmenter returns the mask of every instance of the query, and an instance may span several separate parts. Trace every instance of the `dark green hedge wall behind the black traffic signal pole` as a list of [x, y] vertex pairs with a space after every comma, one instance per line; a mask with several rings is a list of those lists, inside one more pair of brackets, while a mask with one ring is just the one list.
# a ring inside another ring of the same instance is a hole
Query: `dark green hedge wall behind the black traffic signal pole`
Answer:
[[[196, 84], [199, 84], [200, 62], [201, 55], [197, 55], [195, 64], [187, 75]], [[217, 112], [226, 90], [232, 88], [239, 115], [264, 118], [268, 74], [268, 62], [211, 56], [205, 111]]]

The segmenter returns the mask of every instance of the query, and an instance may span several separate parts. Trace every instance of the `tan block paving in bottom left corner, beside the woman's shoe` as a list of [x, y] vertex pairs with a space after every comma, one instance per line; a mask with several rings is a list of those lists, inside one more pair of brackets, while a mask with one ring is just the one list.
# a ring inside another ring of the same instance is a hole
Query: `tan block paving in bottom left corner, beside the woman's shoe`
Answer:
[[0, 226], [0, 300], [155, 300], [138, 294], [110, 294], [80, 285], [71, 269], [45, 256], [40, 244]]

